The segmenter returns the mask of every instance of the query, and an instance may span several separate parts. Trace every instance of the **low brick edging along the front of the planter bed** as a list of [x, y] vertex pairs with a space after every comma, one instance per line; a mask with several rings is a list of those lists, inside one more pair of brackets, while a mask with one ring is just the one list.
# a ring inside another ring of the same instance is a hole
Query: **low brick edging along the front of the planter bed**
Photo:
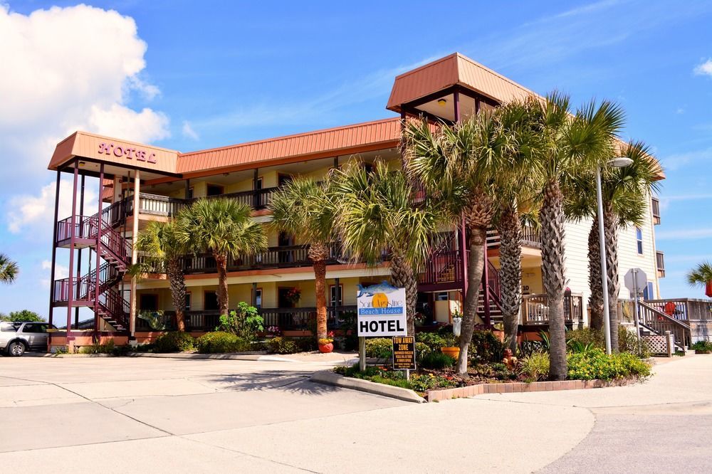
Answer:
[[624, 379], [614, 381], [604, 380], [562, 380], [543, 382], [503, 382], [501, 384], [477, 384], [460, 386], [455, 389], [431, 390], [426, 394], [427, 401], [441, 401], [468, 396], [486, 394], [518, 394], [525, 391], [554, 391], [554, 390], [580, 390], [601, 389], [605, 386], [627, 385], [637, 379]]

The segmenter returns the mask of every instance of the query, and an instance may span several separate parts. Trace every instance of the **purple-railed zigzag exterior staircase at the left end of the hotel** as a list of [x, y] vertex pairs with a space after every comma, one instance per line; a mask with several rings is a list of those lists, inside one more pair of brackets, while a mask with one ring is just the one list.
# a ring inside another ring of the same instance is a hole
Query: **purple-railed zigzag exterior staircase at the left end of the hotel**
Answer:
[[117, 332], [128, 332], [130, 305], [117, 285], [122, 281], [131, 263], [131, 243], [117, 228], [125, 223], [125, 201], [119, 201], [90, 217], [75, 216], [57, 223], [57, 246], [93, 248], [103, 263], [86, 275], [63, 278], [54, 282], [53, 305], [92, 307]]

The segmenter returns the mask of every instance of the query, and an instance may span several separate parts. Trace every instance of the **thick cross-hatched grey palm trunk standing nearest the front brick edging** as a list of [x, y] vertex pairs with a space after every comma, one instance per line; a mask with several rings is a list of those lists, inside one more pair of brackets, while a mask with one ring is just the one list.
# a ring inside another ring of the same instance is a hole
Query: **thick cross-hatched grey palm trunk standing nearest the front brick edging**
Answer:
[[549, 306], [549, 376], [553, 380], [564, 380], [567, 374], [564, 321], [566, 288], [564, 211], [563, 194], [557, 181], [551, 181], [544, 189], [544, 200], [539, 216], [543, 243], [542, 276]]

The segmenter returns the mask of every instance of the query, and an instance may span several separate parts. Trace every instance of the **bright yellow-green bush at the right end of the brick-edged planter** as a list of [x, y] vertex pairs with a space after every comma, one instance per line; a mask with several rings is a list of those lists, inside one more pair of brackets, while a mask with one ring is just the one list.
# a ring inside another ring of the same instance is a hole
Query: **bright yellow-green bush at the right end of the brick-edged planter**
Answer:
[[568, 378], [575, 380], [615, 380], [650, 375], [650, 364], [627, 352], [607, 355], [602, 349], [593, 349], [569, 354], [567, 362]]

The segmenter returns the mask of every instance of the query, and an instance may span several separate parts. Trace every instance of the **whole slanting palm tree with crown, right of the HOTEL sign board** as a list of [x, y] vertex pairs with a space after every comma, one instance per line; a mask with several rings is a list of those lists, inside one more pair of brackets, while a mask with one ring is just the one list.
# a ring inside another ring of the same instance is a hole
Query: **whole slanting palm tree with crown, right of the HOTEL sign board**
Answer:
[[464, 216], [466, 221], [470, 250], [468, 288], [457, 367], [460, 374], [467, 374], [468, 347], [487, 258], [487, 229], [496, 212], [498, 172], [509, 164], [515, 142], [511, 134], [503, 132], [493, 112], [487, 111], [436, 130], [424, 120], [407, 122], [403, 140], [409, 174], [420, 181], [449, 214]]

